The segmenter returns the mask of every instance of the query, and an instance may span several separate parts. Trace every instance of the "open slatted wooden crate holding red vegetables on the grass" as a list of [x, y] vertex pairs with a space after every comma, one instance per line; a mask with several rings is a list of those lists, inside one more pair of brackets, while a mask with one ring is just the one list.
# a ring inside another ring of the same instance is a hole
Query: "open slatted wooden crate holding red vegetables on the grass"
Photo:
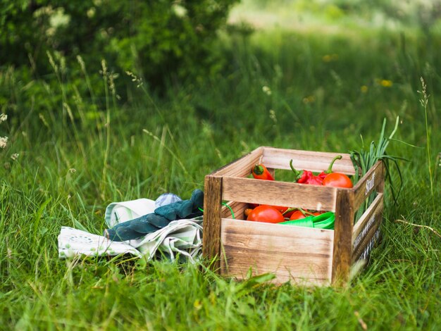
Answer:
[[[203, 254], [216, 258], [212, 265], [221, 275], [243, 279], [275, 273], [275, 282], [341, 284], [351, 266], [368, 258], [378, 239], [383, 219], [384, 168], [378, 161], [352, 189], [304, 185], [249, 178], [251, 168], [263, 163], [274, 169], [294, 168], [321, 172], [337, 153], [259, 147], [205, 177]], [[333, 171], [354, 175], [349, 154], [342, 155]], [[375, 199], [354, 224], [356, 211], [366, 198]], [[228, 204], [237, 219], [231, 218]], [[335, 230], [321, 230], [244, 220], [248, 203], [291, 206], [335, 212]]]

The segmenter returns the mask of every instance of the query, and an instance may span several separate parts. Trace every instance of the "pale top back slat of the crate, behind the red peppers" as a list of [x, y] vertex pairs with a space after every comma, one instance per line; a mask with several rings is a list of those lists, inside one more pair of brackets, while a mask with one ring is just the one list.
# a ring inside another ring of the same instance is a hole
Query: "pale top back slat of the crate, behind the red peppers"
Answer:
[[355, 169], [349, 154], [328, 153], [321, 151], [299, 151], [296, 149], [275, 149], [263, 147], [262, 163], [266, 167], [290, 170], [290, 160], [297, 170], [311, 170], [320, 173], [327, 170], [335, 156], [341, 155], [342, 159], [335, 161], [333, 171], [354, 175]]

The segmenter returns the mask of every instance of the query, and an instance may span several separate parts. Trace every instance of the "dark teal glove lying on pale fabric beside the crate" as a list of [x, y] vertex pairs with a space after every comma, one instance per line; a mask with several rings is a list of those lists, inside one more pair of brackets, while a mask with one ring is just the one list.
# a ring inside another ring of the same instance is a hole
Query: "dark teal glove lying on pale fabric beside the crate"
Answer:
[[195, 189], [189, 200], [158, 207], [154, 213], [115, 225], [111, 229], [104, 230], [104, 237], [114, 242], [137, 239], [166, 227], [172, 220], [201, 216], [201, 208], [204, 208], [204, 192]]

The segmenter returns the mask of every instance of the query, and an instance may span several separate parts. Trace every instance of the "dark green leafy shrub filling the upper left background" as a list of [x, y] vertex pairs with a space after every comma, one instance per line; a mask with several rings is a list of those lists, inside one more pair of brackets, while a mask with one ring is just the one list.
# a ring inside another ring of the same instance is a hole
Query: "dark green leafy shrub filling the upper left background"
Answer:
[[15, 111], [15, 120], [23, 120], [25, 114], [16, 109], [42, 113], [82, 99], [86, 113], [97, 116], [105, 104], [94, 97], [104, 95], [102, 59], [121, 103], [130, 99], [132, 77], [126, 71], [155, 92], [182, 79], [200, 81], [221, 70], [223, 59], [213, 52], [213, 42], [235, 2], [1, 1], [3, 111]]

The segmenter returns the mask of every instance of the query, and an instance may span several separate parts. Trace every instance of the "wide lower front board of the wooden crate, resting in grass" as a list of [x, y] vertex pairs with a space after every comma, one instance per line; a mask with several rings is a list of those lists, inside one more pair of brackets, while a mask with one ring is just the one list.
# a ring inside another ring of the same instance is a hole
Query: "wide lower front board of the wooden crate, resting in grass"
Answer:
[[221, 274], [275, 273], [276, 282], [329, 284], [333, 230], [222, 219]]

